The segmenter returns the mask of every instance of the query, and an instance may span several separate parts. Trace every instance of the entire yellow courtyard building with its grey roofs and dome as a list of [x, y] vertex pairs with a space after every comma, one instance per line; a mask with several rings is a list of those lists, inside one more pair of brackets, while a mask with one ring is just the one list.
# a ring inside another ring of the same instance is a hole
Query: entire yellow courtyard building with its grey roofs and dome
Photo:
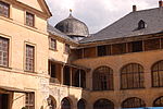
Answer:
[[45, 0], [0, 0], [0, 109], [163, 107], [163, 1], [89, 35]]

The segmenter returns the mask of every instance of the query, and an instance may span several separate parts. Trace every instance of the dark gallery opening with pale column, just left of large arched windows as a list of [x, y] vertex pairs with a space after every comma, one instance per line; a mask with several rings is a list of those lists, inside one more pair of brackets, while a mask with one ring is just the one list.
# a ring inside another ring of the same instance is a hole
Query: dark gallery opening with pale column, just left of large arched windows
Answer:
[[75, 86], [86, 88], [86, 72], [84, 70], [78, 70], [75, 73]]

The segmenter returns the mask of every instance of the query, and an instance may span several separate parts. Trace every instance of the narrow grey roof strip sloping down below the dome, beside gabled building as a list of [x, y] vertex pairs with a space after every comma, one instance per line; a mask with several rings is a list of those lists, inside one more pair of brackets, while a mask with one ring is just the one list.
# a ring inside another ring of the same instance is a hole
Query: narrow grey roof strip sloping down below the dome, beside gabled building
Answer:
[[48, 24], [48, 32], [52, 35], [55, 35], [58, 37], [61, 37], [67, 41], [71, 41], [71, 43], [75, 43], [77, 44], [77, 41], [73, 40], [72, 38], [70, 38], [67, 35], [65, 35], [64, 33], [58, 31], [55, 27], [51, 26], [50, 24]]

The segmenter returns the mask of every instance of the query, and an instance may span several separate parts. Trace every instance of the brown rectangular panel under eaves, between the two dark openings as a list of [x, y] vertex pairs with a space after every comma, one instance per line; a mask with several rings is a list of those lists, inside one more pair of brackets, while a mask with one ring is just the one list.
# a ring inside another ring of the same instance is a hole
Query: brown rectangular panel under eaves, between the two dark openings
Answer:
[[126, 53], [126, 44], [115, 44], [112, 46], [112, 55]]

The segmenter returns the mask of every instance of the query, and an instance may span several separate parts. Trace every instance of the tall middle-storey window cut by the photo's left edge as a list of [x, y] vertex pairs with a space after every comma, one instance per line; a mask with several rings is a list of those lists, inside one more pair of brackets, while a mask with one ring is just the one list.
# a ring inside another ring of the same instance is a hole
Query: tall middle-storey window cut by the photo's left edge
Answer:
[[0, 65], [9, 65], [9, 39], [0, 37]]

